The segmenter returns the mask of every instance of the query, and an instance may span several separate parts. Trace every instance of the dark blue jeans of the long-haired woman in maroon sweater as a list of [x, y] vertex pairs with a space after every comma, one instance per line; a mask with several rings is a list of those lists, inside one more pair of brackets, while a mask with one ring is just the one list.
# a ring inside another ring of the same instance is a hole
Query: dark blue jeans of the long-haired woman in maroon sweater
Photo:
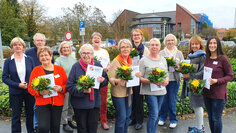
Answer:
[[211, 133], [222, 133], [222, 113], [225, 99], [211, 99], [204, 97]]

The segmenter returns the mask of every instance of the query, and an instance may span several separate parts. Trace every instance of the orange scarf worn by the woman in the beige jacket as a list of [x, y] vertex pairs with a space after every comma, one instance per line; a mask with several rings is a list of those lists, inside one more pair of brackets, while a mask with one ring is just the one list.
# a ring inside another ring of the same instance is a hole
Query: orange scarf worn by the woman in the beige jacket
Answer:
[[[115, 58], [116, 60], [118, 60], [118, 62], [120, 63], [121, 66], [126, 65], [126, 66], [132, 66], [133, 65], [133, 61], [130, 58], [130, 56], [128, 56], [127, 59], [127, 63], [125, 62], [124, 58], [122, 57], [121, 54], [119, 54], [118, 56], [116, 56]], [[131, 87], [127, 88], [127, 93], [128, 93], [128, 105], [131, 105]]]

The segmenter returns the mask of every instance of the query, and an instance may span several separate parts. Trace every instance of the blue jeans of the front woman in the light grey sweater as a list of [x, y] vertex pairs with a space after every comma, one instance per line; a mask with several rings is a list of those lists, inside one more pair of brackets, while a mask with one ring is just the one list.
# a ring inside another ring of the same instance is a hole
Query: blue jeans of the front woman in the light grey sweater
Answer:
[[164, 95], [163, 96], [146, 95], [145, 99], [147, 102], [148, 115], [149, 115], [147, 121], [147, 133], [156, 133], [158, 113], [164, 100]]

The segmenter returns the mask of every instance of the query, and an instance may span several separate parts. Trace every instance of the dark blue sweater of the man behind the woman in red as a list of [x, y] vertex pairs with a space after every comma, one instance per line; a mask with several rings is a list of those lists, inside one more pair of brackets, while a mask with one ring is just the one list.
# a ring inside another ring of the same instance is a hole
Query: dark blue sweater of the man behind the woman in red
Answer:
[[[33, 47], [25, 51], [25, 54], [33, 58], [35, 66], [40, 66], [42, 63], [39, 61], [37, 56], [37, 47]], [[54, 58], [52, 57], [52, 63], [54, 64]]]

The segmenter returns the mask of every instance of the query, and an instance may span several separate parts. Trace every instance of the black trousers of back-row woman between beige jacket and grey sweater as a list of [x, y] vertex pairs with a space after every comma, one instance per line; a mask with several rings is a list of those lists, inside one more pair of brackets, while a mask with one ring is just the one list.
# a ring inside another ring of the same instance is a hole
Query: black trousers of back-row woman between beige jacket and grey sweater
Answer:
[[143, 110], [143, 95], [140, 95], [140, 86], [133, 87], [133, 103], [131, 120], [132, 123], [143, 123], [144, 110]]

